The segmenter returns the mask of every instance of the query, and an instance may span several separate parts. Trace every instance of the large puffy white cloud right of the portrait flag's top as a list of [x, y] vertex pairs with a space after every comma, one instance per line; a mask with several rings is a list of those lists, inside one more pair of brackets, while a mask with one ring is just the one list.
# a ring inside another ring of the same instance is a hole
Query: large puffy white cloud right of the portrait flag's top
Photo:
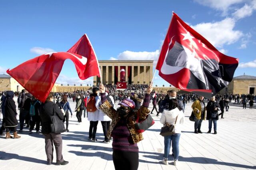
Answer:
[[232, 44], [237, 42], [243, 33], [234, 30], [235, 20], [226, 18], [219, 22], [200, 23], [192, 26], [199, 34], [204, 36], [212, 45], [222, 47], [224, 44]]

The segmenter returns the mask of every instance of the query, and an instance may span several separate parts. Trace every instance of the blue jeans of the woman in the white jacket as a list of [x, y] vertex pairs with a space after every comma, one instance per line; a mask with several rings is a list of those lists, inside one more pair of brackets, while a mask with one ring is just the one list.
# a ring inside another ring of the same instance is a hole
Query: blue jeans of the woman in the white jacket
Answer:
[[179, 158], [179, 141], [180, 133], [173, 134], [171, 136], [164, 136], [164, 158], [168, 158], [170, 154], [170, 147], [172, 143], [172, 150], [174, 154], [174, 160]]

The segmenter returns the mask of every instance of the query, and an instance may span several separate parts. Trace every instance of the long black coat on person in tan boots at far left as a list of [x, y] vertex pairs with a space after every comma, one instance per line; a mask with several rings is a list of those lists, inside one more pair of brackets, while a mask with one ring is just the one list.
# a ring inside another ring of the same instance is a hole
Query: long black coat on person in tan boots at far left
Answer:
[[16, 127], [18, 126], [18, 121], [16, 119], [16, 105], [13, 99], [7, 98], [5, 104], [5, 119], [6, 127]]

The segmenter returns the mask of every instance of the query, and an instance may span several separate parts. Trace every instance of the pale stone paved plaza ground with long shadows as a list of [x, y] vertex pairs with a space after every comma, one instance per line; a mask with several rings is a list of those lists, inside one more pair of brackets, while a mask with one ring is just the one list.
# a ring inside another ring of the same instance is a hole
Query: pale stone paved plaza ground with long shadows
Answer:
[[[75, 103], [70, 100], [72, 111]], [[225, 119], [218, 121], [218, 134], [207, 134], [208, 121], [203, 121], [203, 134], [194, 134], [194, 123], [188, 117], [191, 104], [186, 105], [186, 122], [180, 138], [180, 157], [178, 166], [173, 165], [170, 156], [169, 165], [161, 163], [164, 152], [164, 138], [159, 135], [162, 125], [160, 117], [153, 118], [156, 123], [143, 133], [144, 140], [139, 146], [139, 170], [169, 169], [256, 169], [256, 113], [255, 109], [242, 109], [231, 105], [224, 113]], [[152, 109], [150, 105], [149, 109]], [[2, 115], [1, 115], [2, 116]], [[63, 157], [70, 163], [66, 166], [46, 165], [44, 138], [42, 134], [28, 133], [23, 130], [20, 139], [0, 138], [0, 167], [3, 170], [114, 170], [112, 146], [104, 144], [102, 126], [98, 124], [98, 142], [89, 142], [89, 122], [82, 119], [76, 125], [76, 117], [70, 118], [70, 132], [62, 133]], [[1, 123], [0, 123], [1, 124]], [[55, 152], [55, 151], [54, 151]], [[54, 159], [56, 158], [54, 154]]]

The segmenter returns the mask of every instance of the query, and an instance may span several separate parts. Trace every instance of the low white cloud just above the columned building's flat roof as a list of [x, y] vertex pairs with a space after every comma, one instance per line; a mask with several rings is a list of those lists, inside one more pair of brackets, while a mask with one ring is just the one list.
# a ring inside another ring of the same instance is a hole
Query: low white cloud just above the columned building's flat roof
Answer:
[[148, 52], [148, 51], [124, 51], [118, 55], [120, 60], [154, 60], [154, 66], [158, 61], [159, 50]]

